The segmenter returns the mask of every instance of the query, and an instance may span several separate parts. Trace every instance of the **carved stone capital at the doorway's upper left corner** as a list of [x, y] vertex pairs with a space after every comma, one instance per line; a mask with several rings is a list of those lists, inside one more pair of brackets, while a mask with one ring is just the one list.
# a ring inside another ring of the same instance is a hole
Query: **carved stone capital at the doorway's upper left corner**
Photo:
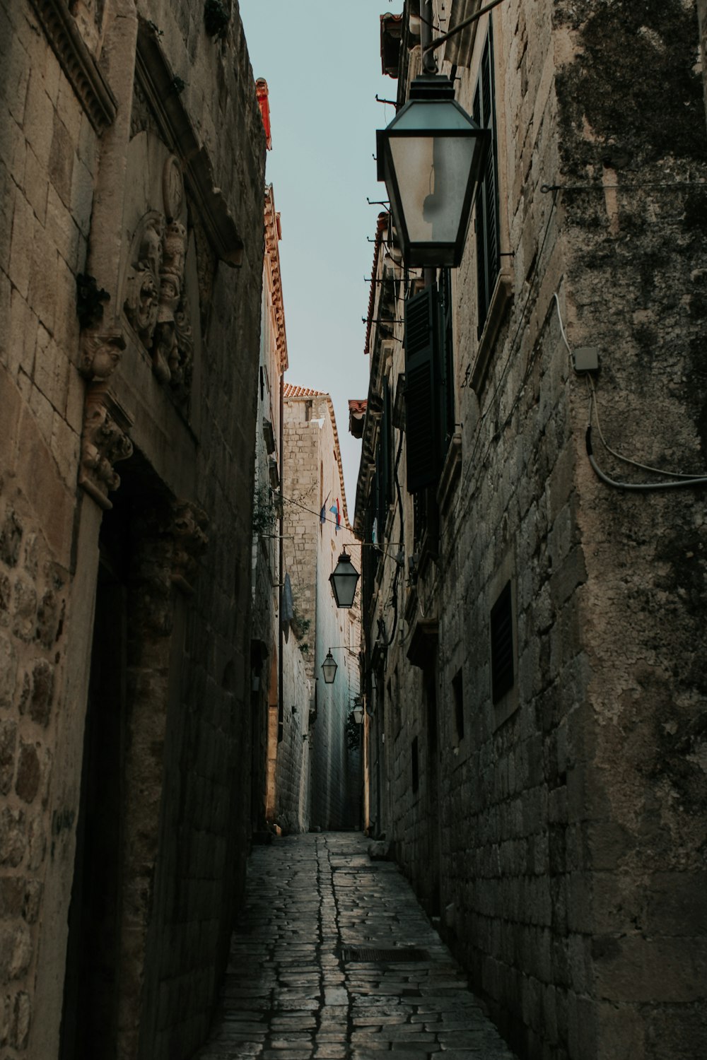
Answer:
[[132, 454], [132, 443], [126, 435], [130, 425], [129, 417], [108, 393], [105, 382], [89, 385], [84, 406], [78, 484], [101, 508], [112, 508], [108, 493], [120, 485], [113, 464]]

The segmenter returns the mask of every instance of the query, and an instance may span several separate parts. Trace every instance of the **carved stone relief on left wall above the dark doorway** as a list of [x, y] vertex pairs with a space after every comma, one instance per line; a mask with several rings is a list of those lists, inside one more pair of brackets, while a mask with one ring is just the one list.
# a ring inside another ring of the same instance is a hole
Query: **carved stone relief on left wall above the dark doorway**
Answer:
[[184, 289], [187, 229], [176, 219], [183, 211], [184, 186], [174, 155], [164, 163], [161, 191], [164, 211], [148, 211], [132, 240], [123, 307], [157, 378], [185, 401], [194, 342]]

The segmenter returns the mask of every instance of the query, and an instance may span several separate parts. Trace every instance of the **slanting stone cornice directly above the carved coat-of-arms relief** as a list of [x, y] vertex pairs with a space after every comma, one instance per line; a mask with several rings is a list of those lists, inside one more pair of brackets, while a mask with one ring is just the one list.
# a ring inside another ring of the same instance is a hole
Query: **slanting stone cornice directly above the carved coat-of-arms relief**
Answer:
[[175, 89], [174, 73], [155, 30], [143, 18], [138, 33], [136, 74], [165, 143], [181, 161], [187, 190], [209, 242], [227, 265], [243, 264], [243, 240], [222, 190], [215, 187], [211, 159]]

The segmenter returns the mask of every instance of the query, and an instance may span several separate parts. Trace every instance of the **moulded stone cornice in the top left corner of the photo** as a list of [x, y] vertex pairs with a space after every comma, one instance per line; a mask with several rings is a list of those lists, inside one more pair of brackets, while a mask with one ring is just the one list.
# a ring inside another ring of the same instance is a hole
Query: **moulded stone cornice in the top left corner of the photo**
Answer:
[[99, 136], [116, 119], [118, 104], [84, 42], [66, 0], [31, 0], [61, 68]]

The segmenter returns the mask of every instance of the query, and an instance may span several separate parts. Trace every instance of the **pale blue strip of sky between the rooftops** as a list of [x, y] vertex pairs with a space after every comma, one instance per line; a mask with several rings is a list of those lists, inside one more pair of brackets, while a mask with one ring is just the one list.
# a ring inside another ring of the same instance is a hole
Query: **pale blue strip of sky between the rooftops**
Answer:
[[255, 77], [268, 83], [272, 151], [266, 179], [282, 217], [282, 289], [288, 383], [331, 393], [353, 519], [360, 442], [349, 434], [350, 398], [368, 393], [364, 355], [373, 245], [385, 186], [375, 176], [375, 130], [394, 117], [381, 73], [379, 18], [390, 0], [241, 0]]

